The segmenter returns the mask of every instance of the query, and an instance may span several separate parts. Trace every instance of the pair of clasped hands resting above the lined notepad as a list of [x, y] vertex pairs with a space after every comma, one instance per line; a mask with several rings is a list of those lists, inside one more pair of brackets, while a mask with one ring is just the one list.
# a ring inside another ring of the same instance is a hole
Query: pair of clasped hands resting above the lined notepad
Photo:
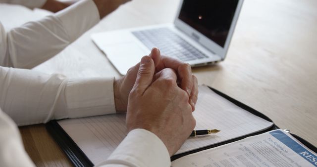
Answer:
[[162, 140], [170, 156], [175, 154], [196, 125], [192, 112], [198, 87], [190, 65], [161, 56], [153, 48], [113, 85], [117, 112], [127, 112], [128, 131], [149, 130]]

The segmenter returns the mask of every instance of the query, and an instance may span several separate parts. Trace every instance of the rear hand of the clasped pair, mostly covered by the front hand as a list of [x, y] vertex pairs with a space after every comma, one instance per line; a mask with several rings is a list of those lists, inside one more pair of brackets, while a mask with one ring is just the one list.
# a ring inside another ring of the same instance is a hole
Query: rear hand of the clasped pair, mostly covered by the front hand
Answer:
[[[188, 102], [194, 111], [197, 102], [198, 87], [197, 78], [192, 75], [190, 65], [170, 57], [161, 56], [158, 48], [152, 49], [150, 57], [155, 64], [155, 73], [165, 68], [171, 68], [177, 72], [178, 85], [190, 95]], [[122, 79], [115, 80], [113, 83], [117, 112], [127, 111], [128, 96], [135, 83], [139, 67], [140, 63], [131, 67]]]

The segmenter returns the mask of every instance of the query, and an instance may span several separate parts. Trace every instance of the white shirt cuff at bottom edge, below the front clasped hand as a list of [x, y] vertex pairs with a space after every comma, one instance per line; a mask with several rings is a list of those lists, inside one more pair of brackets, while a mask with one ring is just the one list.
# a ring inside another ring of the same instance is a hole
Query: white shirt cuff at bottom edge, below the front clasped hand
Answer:
[[166, 146], [157, 135], [145, 129], [134, 129], [99, 166], [170, 167], [170, 164]]

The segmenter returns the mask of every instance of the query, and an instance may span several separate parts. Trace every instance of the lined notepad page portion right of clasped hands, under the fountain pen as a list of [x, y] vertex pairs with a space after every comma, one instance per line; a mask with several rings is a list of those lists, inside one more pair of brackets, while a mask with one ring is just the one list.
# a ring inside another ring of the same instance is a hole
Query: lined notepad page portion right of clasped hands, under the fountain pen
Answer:
[[199, 86], [198, 99], [193, 113], [196, 119], [195, 129], [211, 128], [220, 132], [189, 137], [176, 154], [261, 131], [273, 125], [236, 106], [207, 86]]

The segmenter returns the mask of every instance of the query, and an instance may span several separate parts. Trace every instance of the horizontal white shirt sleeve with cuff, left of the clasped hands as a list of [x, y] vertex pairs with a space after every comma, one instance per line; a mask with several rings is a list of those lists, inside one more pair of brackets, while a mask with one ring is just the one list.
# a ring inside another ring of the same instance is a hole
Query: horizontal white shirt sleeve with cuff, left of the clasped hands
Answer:
[[0, 108], [17, 125], [115, 113], [113, 78], [69, 80], [0, 67]]

